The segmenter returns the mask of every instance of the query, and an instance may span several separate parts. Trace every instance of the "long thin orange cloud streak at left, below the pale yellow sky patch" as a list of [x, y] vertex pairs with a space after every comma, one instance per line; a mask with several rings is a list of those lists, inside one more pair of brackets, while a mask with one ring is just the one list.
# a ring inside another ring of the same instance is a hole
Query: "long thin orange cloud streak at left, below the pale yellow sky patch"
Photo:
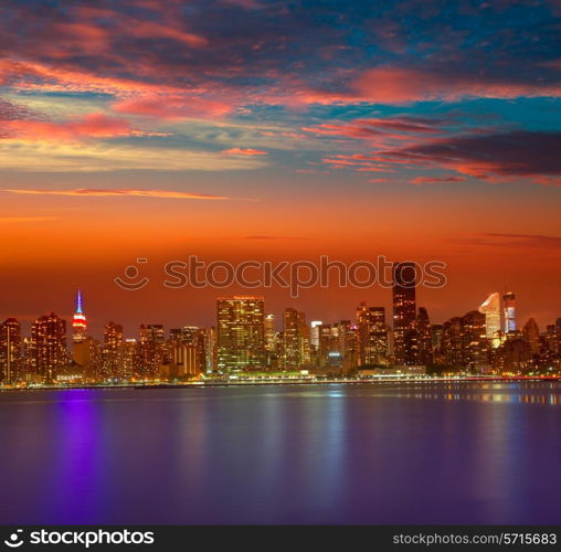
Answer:
[[77, 198], [158, 198], [171, 200], [227, 200], [222, 195], [211, 195], [207, 193], [180, 192], [174, 190], [141, 190], [141, 189], [88, 189], [75, 188], [71, 190], [31, 190], [31, 189], [4, 189], [0, 192], [15, 193], [22, 195], [70, 195]]

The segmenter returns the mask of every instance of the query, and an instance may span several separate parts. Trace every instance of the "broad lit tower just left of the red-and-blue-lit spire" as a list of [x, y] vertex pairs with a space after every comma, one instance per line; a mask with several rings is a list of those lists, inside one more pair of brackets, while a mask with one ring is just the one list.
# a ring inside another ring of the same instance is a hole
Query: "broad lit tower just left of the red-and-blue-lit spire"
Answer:
[[31, 371], [42, 381], [52, 382], [67, 363], [66, 321], [54, 312], [38, 318], [31, 327]]

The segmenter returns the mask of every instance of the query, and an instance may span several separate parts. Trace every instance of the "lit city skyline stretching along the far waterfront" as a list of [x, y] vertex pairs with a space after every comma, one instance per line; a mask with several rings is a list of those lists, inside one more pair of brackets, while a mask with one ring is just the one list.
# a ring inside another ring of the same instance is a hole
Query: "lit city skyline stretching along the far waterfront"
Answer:
[[[415, 268], [392, 267], [392, 316], [361, 301], [354, 319], [311, 320], [285, 307], [280, 329], [266, 314], [263, 296], [215, 299], [209, 328], [161, 323], [139, 326], [135, 338], [109, 321], [103, 339], [91, 336], [77, 290], [72, 326], [54, 312], [39, 317], [24, 336], [20, 322], [0, 323], [0, 381], [116, 383], [191, 380], [204, 374], [305, 369], [332, 374], [399, 369], [414, 373], [551, 373], [561, 368], [561, 317], [546, 331], [533, 318], [517, 321], [516, 295], [488, 296], [478, 307], [444, 323], [431, 321], [416, 302]], [[308, 321], [309, 320], [309, 321]], [[70, 344], [70, 348], [68, 348]], [[440, 367], [440, 368], [438, 368]]]

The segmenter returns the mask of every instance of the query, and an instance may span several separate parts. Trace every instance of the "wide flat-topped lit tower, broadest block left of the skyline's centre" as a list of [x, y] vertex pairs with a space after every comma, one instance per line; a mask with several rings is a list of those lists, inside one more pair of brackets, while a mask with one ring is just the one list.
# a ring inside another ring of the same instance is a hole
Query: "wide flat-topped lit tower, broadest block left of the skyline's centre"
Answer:
[[219, 371], [265, 367], [265, 316], [263, 297], [216, 299]]

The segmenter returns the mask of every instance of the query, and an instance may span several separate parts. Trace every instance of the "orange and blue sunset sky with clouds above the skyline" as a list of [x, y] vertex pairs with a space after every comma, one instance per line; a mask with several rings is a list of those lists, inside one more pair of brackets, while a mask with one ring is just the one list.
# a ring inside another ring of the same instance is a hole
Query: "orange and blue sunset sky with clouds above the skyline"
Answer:
[[[167, 261], [446, 263], [442, 322], [489, 293], [561, 317], [561, 4], [4, 0], [0, 318], [93, 333], [214, 322]], [[150, 284], [114, 283], [137, 258]], [[388, 289], [252, 289], [353, 317]]]

